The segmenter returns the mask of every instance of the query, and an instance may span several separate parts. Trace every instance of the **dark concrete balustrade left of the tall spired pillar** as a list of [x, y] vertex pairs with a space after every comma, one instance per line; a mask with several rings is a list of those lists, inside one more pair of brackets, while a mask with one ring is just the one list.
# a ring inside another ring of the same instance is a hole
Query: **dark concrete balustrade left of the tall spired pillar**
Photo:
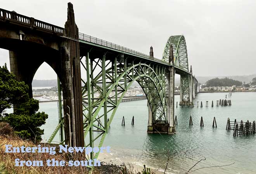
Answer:
[[11, 12], [8, 10], [0, 9], [0, 20], [9, 21], [10, 23], [19, 24], [25, 27], [36, 28], [40, 31], [55, 33], [59, 35], [65, 34], [65, 29], [49, 24], [47, 22], [39, 21], [33, 17], [24, 16], [17, 14], [16, 12]]

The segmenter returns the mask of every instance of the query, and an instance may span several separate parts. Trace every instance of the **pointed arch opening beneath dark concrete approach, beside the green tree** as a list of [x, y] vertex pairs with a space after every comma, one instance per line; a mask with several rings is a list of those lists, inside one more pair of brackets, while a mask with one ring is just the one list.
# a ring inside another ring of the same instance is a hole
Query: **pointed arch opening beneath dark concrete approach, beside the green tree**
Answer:
[[[61, 82], [59, 81], [61, 84]], [[61, 87], [61, 86], [59, 86]], [[62, 90], [58, 88], [58, 76], [54, 69], [43, 62], [37, 69], [33, 76], [32, 81], [33, 98], [39, 100], [39, 112], [45, 112], [48, 114], [48, 119], [41, 129], [44, 129], [42, 135], [42, 141], [47, 142], [54, 132], [55, 127], [59, 124], [60, 117], [62, 117], [63, 109], [62, 103], [59, 103], [59, 92], [61, 92], [62, 101]], [[52, 143], [60, 143], [63, 139], [63, 125], [62, 129], [56, 134], [52, 140]], [[62, 131], [62, 133], [61, 133]]]

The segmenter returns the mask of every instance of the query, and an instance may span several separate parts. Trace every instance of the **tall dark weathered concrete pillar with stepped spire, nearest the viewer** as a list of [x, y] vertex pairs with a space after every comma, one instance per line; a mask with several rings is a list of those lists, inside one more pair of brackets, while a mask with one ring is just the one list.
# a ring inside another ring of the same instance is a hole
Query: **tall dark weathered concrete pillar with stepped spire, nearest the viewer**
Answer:
[[[68, 3], [65, 29], [67, 37], [78, 40], [72, 3]], [[69, 38], [63, 38], [61, 43], [65, 144], [84, 146], [79, 42]]]

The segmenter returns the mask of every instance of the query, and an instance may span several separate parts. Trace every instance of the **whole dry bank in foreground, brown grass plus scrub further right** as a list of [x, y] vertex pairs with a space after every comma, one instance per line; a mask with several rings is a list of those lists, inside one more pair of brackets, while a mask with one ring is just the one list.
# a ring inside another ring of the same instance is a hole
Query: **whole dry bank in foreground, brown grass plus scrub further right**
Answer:
[[[88, 167], [82, 166], [68, 166], [69, 160], [86, 160], [84, 153], [56, 153], [50, 155], [49, 153], [5, 153], [5, 145], [12, 145], [13, 147], [34, 147], [38, 144], [33, 143], [30, 140], [22, 140], [19, 136], [14, 134], [12, 127], [7, 123], [0, 122], [0, 174], [89, 174]], [[40, 143], [41, 147], [50, 147], [47, 143]], [[42, 167], [28, 167], [28, 166], [15, 166], [15, 159], [19, 158], [20, 160], [42, 160]], [[55, 160], [61, 161], [64, 160], [66, 165], [64, 167], [51, 167], [47, 166], [46, 160], [55, 158]], [[130, 165], [126, 168], [125, 165], [115, 165], [115, 164], [106, 164], [101, 163], [100, 167], [95, 167], [92, 174], [141, 174], [140, 172], [133, 172]], [[142, 172], [142, 174], [150, 174]]]

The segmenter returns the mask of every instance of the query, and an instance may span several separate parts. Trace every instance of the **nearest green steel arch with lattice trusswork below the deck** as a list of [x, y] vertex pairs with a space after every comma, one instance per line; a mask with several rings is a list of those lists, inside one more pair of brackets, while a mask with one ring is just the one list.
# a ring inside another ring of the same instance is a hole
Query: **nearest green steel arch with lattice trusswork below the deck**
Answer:
[[[166, 67], [145, 62], [127, 61], [126, 55], [94, 59], [81, 57], [86, 69], [83, 81], [83, 115], [85, 146], [101, 147], [118, 106], [128, 88], [137, 81], [147, 96], [153, 123], [168, 123], [166, 93]], [[85, 58], [85, 60], [84, 60]], [[97, 73], [97, 69], [100, 71]], [[90, 154], [97, 158], [99, 153]]]

